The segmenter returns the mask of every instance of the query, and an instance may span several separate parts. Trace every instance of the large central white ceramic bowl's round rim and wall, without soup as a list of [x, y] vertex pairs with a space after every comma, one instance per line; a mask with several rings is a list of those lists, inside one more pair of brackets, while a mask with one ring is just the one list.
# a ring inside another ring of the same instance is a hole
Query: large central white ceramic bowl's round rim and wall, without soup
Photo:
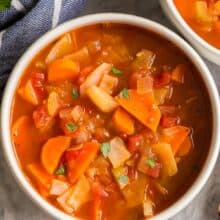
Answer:
[[152, 22], [150, 20], [136, 17], [133, 15], [125, 15], [125, 14], [114, 14], [114, 13], [104, 13], [104, 14], [95, 14], [95, 15], [88, 15], [81, 18], [73, 19], [68, 21], [59, 27], [51, 30], [50, 32], [46, 33], [42, 36], [39, 40], [37, 40], [20, 58], [14, 70], [12, 71], [8, 83], [6, 85], [3, 100], [2, 100], [2, 108], [1, 108], [1, 140], [2, 140], [2, 147], [4, 151], [5, 158], [11, 171], [19, 183], [21, 188], [28, 194], [28, 196], [35, 201], [42, 209], [44, 209], [47, 213], [51, 216], [62, 219], [62, 220], [70, 220], [76, 219], [70, 217], [69, 215], [65, 214], [64, 212], [58, 210], [51, 204], [49, 204], [46, 200], [44, 200], [37, 191], [32, 187], [32, 185], [28, 182], [25, 178], [23, 172], [19, 167], [18, 160], [16, 158], [14, 148], [11, 143], [10, 137], [10, 111], [12, 100], [14, 96], [14, 92], [17, 86], [17, 83], [24, 72], [24, 69], [27, 67], [29, 62], [32, 60], [33, 57], [46, 45], [48, 45], [51, 41], [62, 35], [63, 33], [70, 31], [74, 28], [82, 27], [85, 25], [91, 25], [94, 23], [100, 22], [113, 22], [113, 23], [122, 23], [122, 24], [131, 24], [143, 29], [148, 29], [153, 31], [165, 39], [168, 39], [173, 44], [175, 44], [178, 48], [180, 48], [186, 56], [192, 60], [196, 68], [201, 74], [201, 77], [206, 85], [207, 91], [209, 93], [211, 107], [213, 112], [213, 133], [212, 133], [212, 141], [209, 153], [207, 155], [207, 160], [198, 176], [194, 184], [191, 186], [190, 189], [177, 201], [175, 204], [164, 210], [163, 212], [159, 213], [152, 219], [154, 220], [165, 220], [170, 218], [171, 216], [175, 215], [181, 209], [183, 209], [189, 202], [198, 194], [201, 188], [205, 185], [208, 177], [210, 176], [212, 169], [215, 165], [217, 160], [219, 146], [220, 146], [220, 112], [218, 107], [220, 106], [219, 103], [219, 96], [215, 86], [215, 83], [211, 77], [211, 74], [200, 58], [200, 56], [178, 35], [173, 33], [172, 31], [168, 30], [167, 28]]

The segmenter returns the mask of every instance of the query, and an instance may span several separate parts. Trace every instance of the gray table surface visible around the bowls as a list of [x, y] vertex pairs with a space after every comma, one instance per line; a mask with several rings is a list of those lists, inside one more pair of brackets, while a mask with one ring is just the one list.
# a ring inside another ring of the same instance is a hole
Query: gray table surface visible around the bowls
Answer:
[[[74, 0], [73, 0], [74, 1]], [[183, 0], [184, 1], [184, 0]], [[175, 31], [164, 16], [158, 0], [89, 0], [82, 15], [123, 12], [157, 21]], [[205, 61], [220, 89], [220, 67]], [[172, 220], [217, 220], [220, 203], [220, 158], [199, 195]], [[52, 220], [20, 190], [0, 152], [0, 220]], [[163, 220], [163, 219], [162, 219]]]

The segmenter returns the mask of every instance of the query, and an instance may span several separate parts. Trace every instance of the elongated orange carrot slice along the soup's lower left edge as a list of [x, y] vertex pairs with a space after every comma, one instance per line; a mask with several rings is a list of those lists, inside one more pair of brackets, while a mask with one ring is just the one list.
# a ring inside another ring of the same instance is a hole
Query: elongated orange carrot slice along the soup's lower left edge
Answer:
[[37, 183], [40, 183], [48, 190], [50, 189], [53, 176], [47, 173], [40, 164], [38, 163], [28, 164], [27, 170], [30, 172], [34, 180], [37, 181]]

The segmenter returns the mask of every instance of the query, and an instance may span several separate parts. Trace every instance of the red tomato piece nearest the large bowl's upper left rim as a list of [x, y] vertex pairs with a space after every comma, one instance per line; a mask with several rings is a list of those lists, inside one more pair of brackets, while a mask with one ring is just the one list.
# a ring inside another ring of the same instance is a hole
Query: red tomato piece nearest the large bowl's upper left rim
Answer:
[[33, 71], [31, 73], [31, 83], [40, 99], [45, 98], [47, 91], [45, 88], [46, 77], [43, 72]]

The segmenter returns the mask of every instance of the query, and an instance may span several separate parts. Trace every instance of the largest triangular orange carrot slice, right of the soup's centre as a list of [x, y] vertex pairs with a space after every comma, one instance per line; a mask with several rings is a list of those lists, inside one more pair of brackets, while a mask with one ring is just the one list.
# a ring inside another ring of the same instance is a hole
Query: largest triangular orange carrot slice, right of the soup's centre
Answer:
[[161, 114], [153, 94], [138, 94], [136, 90], [128, 90], [128, 93], [129, 97], [117, 96], [116, 101], [142, 124], [156, 131]]

